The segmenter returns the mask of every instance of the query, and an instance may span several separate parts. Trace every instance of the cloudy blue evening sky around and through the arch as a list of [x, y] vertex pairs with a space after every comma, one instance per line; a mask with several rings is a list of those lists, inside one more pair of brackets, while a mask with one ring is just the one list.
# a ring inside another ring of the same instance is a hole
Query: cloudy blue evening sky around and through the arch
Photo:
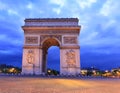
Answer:
[[[81, 67], [120, 67], [120, 0], [0, 0], [0, 64], [21, 67], [25, 18], [78, 18]], [[55, 51], [55, 53], [53, 53]], [[59, 68], [59, 48], [48, 67]]]

